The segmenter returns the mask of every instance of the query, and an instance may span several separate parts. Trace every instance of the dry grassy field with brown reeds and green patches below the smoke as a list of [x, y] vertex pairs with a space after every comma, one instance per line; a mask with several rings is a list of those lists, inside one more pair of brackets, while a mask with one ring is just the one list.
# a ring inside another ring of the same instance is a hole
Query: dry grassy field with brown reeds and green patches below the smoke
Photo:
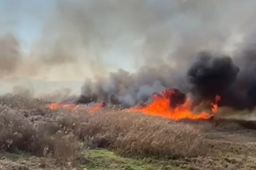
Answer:
[[256, 168], [256, 123], [172, 121], [106, 107], [91, 114], [0, 99], [1, 170], [204, 170]]

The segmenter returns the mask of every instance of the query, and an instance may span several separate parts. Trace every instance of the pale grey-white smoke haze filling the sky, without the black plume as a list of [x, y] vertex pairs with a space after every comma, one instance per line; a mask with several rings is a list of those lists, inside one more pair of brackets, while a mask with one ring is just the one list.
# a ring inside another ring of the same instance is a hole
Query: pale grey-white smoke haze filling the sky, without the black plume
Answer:
[[[91, 78], [82, 95], [108, 101], [114, 94], [128, 106], [164, 88], [187, 92], [188, 65], [199, 51], [232, 56], [243, 46], [243, 37], [255, 31], [253, 0], [62, 0], [47, 3], [44, 19], [36, 14], [39, 6], [13, 0], [3, 4], [0, 78]], [[26, 53], [17, 36], [23, 13], [42, 22]], [[37, 87], [32, 91], [40, 93]]]

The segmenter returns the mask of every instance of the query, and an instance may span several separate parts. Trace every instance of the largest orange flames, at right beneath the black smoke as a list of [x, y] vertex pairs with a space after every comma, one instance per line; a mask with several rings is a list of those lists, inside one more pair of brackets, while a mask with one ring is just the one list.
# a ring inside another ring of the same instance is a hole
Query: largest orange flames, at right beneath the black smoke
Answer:
[[201, 112], [199, 114], [193, 114], [191, 112], [191, 102], [189, 98], [186, 98], [184, 104], [177, 105], [174, 108], [170, 107], [171, 96], [175, 94], [175, 91], [164, 90], [162, 94], [154, 94], [153, 100], [150, 104], [144, 106], [133, 107], [129, 109], [132, 112], [142, 112], [147, 115], [161, 116], [163, 118], [169, 118], [173, 120], [181, 119], [209, 119], [214, 113], [217, 112], [217, 102], [221, 99], [216, 96], [214, 103], [212, 103], [212, 113]]

